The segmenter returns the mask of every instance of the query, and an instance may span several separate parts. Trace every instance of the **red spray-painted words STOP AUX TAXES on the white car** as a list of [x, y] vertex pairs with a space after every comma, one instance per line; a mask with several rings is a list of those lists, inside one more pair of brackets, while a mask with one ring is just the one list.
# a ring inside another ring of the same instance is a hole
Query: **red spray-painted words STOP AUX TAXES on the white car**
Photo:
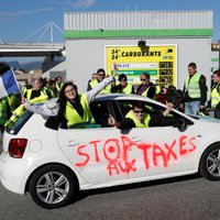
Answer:
[[[75, 163], [77, 167], [85, 167], [89, 162], [100, 163], [103, 158], [107, 162], [109, 175], [119, 175], [120, 173], [136, 172], [136, 158], [128, 158], [129, 152], [140, 151], [145, 169], [162, 164], [168, 167], [169, 162], [177, 161], [185, 155], [196, 151], [195, 136], [182, 135], [172, 140], [169, 143], [135, 143], [129, 138], [121, 135], [119, 139], [108, 139], [107, 141], [95, 140], [88, 144], [77, 147], [76, 156], [79, 162]], [[92, 151], [88, 152], [88, 150]]]

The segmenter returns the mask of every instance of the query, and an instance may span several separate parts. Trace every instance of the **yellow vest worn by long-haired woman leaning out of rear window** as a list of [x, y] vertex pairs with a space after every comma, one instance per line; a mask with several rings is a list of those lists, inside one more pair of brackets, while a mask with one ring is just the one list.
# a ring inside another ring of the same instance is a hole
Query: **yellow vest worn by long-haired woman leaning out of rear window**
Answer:
[[91, 112], [89, 109], [89, 102], [85, 94], [79, 95], [79, 101], [84, 109], [82, 118], [78, 114], [78, 112], [72, 106], [72, 103], [67, 101], [64, 116], [67, 119], [67, 125], [69, 129], [85, 128], [85, 123], [89, 123], [91, 121]]

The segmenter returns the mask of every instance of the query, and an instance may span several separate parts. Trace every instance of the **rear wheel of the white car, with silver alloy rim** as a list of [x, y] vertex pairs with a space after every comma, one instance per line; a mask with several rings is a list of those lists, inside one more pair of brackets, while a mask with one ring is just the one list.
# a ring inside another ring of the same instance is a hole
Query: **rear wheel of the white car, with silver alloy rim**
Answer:
[[46, 209], [68, 205], [78, 193], [75, 175], [65, 166], [51, 164], [38, 169], [31, 178], [32, 199]]

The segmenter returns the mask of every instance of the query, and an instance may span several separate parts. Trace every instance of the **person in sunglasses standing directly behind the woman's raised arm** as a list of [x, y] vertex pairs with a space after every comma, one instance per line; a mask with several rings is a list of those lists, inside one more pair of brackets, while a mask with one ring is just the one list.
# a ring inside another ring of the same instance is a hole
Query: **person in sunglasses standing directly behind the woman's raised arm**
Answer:
[[[106, 72], [102, 68], [99, 68], [97, 70], [97, 76], [96, 79], [91, 80], [88, 84], [87, 91], [90, 91], [94, 89], [98, 84], [100, 84], [103, 79], [106, 78]], [[105, 95], [105, 94], [111, 94], [111, 85], [107, 86], [103, 88], [99, 94]]]

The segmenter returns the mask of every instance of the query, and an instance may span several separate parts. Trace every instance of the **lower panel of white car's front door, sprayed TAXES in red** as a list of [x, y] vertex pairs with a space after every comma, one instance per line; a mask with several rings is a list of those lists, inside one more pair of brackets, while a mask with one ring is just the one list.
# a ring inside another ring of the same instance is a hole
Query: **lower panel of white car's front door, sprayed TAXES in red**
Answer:
[[[178, 114], [169, 117], [178, 118]], [[183, 129], [173, 125], [133, 128], [122, 133], [127, 140], [128, 161], [132, 164], [130, 179], [168, 177], [195, 169], [197, 132], [193, 124]]]

